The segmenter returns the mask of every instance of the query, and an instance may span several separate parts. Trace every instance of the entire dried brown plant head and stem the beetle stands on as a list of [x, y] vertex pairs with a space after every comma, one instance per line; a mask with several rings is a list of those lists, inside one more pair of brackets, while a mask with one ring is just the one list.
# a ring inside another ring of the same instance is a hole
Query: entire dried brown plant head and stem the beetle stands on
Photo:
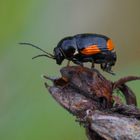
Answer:
[[[140, 126], [135, 119], [140, 118], [140, 110], [135, 106], [113, 106], [112, 96], [119, 89], [127, 104], [136, 104], [135, 94], [125, 83], [140, 78], [131, 76], [111, 82], [97, 70], [80, 66], [64, 67], [61, 75], [54, 79], [44, 76], [53, 82], [52, 86], [45, 86], [61, 106], [84, 124], [89, 140], [139, 138]], [[136, 135], [132, 135], [133, 131]]]

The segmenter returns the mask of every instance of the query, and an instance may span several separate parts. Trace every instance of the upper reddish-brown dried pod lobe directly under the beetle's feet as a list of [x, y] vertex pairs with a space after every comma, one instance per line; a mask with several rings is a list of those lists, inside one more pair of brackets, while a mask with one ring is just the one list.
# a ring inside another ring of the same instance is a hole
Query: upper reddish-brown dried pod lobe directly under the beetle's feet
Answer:
[[104, 98], [109, 106], [112, 104], [112, 83], [96, 69], [71, 66], [62, 68], [60, 72], [80, 94], [93, 100]]

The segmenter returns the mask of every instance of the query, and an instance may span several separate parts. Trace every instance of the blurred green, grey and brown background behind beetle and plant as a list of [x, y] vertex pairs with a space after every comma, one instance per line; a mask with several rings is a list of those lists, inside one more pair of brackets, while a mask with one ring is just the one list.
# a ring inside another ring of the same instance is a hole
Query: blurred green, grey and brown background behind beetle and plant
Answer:
[[[62, 66], [32, 56], [52, 52], [77, 33], [100, 33], [116, 45], [116, 76], [140, 75], [139, 0], [0, 0], [0, 140], [86, 140], [75, 117], [49, 95], [42, 74], [59, 76]], [[63, 63], [65, 65], [66, 62]], [[140, 81], [129, 86], [140, 105]]]

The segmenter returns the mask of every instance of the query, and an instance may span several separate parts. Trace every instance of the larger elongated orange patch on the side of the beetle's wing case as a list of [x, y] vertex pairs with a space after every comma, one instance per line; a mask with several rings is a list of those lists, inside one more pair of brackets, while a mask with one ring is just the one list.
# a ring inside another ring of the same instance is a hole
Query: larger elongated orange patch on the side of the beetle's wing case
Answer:
[[81, 53], [85, 54], [85, 55], [92, 55], [92, 54], [97, 54], [100, 52], [101, 52], [101, 50], [98, 48], [97, 45], [91, 45], [91, 46], [88, 46], [85, 49], [81, 50]]

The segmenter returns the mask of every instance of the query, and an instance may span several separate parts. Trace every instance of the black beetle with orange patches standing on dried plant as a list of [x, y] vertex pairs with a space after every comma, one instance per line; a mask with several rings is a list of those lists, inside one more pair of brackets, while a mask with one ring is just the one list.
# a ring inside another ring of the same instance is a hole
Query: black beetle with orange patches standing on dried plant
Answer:
[[91, 62], [92, 68], [94, 63], [97, 63], [100, 64], [103, 71], [114, 74], [111, 68], [115, 65], [117, 59], [114, 51], [115, 46], [113, 41], [105, 35], [85, 33], [65, 37], [54, 48], [54, 54], [50, 54], [30, 43], [20, 44], [31, 45], [45, 53], [33, 58], [46, 56], [55, 59], [59, 65], [64, 59], [68, 60], [68, 65], [70, 61], [81, 66], [84, 62]]

